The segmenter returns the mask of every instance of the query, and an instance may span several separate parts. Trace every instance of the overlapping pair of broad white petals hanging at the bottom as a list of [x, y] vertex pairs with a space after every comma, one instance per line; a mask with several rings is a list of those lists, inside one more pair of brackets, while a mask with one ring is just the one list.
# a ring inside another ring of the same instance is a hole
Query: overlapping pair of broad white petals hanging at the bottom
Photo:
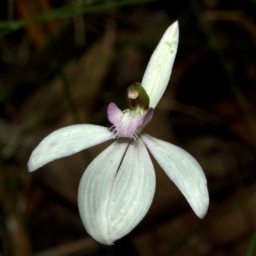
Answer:
[[121, 138], [96, 157], [79, 185], [84, 227], [103, 244], [113, 244], [136, 227], [154, 197], [156, 177], [147, 148], [140, 139], [129, 141]]

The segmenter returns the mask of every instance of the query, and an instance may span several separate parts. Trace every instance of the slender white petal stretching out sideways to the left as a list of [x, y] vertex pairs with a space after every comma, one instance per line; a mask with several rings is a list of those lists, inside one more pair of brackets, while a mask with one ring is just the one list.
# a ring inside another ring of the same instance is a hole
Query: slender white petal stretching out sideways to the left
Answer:
[[108, 128], [99, 125], [70, 125], [52, 132], [33, 150], [28, 170], [33, 172], [55, 159], [70, 156], [81, 150], [113, 138]]

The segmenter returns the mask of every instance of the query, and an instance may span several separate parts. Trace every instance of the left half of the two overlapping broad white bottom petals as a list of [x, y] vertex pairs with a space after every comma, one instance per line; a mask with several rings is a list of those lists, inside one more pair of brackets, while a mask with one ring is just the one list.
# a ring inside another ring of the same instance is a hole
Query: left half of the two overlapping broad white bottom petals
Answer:
[[78, 189], [78, 208], [90, 236], [102, 244], [113, 244], [109, 236], [108, 210], [116, 172], [129, 139], [115, 141], [97, 156], [83, 174]]

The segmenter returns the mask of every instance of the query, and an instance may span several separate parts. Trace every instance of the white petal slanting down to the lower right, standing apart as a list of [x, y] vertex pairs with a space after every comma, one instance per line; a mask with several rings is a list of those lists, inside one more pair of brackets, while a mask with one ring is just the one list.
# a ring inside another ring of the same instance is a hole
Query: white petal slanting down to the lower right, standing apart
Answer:
[[148, 134], [141, 135], [157, 163], [180, 189], [199, 218], [204, 218], [209, 195], [207, 180], [196, 159], [182, 148]]

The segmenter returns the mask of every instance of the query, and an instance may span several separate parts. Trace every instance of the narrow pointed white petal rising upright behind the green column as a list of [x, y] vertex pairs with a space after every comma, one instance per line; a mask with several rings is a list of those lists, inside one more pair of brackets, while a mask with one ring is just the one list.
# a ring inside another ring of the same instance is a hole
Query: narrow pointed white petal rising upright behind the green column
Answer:
[[155, 108], [168, 85], [179, 42], [178, 21], [164, 33], [153, 52], [142, 79], [142, 86], [150, 98], [150, 108]]

